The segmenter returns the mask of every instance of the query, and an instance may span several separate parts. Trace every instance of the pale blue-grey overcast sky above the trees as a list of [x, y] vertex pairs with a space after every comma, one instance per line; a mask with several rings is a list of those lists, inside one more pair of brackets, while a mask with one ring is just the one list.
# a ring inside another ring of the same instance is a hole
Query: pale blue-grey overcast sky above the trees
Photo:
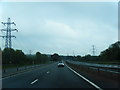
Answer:
[[[118, 41], [117, 2], [4, 2], [0, 16], [0, 22], [10, 17], [17, 24], [12, 45], [25, 53], [83, 56], [95, 45], [99, 55]], [[0, 38], [2, 49], [4, 44]]]

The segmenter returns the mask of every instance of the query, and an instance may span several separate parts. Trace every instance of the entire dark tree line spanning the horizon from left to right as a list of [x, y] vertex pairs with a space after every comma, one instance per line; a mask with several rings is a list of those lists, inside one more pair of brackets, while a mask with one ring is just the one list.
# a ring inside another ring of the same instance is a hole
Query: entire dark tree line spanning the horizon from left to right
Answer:
[[2, 63], [3, 64], [40, 64], [47, 61], [60, 61], [62, 59], [69, 60], [103, 60], [114, 61], [120, 60], [120, 42], [111, 44], [106, 50], [102, 51], [98, 56], [91, 56], [90, 54], [85, 56], [60, 56], [57, 53], [53, 55], [41, 54], [36, 52], [35, 55], [25, 55], [22, 50], [14, 50], [12, 48], [5, 48], [2, 51]]

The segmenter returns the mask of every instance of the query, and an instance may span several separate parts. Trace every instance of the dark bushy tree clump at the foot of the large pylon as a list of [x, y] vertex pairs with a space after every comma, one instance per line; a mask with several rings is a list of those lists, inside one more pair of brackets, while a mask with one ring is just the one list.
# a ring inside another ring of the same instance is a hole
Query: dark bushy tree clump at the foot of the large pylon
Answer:
[[24, 64], [26, 63], [26, 55], [22, 50], [14, 50], [12, 48], [5, 48], [2, 52], [3, 64]]

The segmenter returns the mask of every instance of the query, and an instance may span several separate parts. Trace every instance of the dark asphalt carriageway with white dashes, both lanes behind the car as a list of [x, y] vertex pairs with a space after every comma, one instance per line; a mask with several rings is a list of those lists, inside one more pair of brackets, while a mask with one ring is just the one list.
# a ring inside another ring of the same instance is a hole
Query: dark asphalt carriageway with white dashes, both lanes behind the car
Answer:
[[66, 65], [57, 62], [2, 79], [2, 88], [95, 88]]

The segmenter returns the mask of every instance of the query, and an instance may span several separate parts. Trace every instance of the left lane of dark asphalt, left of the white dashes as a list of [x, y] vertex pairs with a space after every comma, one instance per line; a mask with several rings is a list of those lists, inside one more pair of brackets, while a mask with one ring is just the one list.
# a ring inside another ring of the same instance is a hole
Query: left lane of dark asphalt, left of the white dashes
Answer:
[[[54, 63], [56, 64], [56, 63]], [[2, 88], [29, 88], [30, 83], [36, 80], [36, 76], [43, 77], [47, 71], [50, 71], [49, 67], [53, 67], [54, 64], [43, 66], [31, 71], [20, 73], [8, 78], [2, 79]]]

